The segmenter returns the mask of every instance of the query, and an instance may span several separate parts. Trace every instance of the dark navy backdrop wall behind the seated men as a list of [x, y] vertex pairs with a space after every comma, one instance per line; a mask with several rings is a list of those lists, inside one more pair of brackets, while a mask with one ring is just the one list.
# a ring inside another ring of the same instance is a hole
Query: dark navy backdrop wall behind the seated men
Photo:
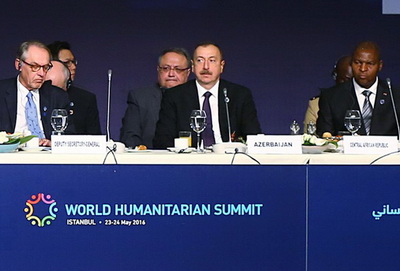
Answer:
[[302, 123], [308, 99], [334, 83], [336, 59], [362, 40], [380, 45], [381, 76], [400, 81], [400, 15], [383, 15], [379, 0], [6, 0], [0, 14], [0, 78], [17, 74], [23, 41], [69, 41], [79, 61], [75, 82], [96, 93], [103, 133], [113, 70], [114, 140], [128, 91], [156, 81], [157, 58], [167, 47], [192, 53], [201, 41], [218, 43], [223, 77], [253, 91], [266, 134], [288, 134], [293, 119]]

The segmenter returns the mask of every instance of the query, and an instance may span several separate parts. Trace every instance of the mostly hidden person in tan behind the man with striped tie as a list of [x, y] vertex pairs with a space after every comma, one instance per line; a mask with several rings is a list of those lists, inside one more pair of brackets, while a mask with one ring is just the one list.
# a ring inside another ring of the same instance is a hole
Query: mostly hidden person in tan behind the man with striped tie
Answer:
[[[349, 81], [353, 77], [353, 71], [351, 69], [351, 56], [342, 56], [338, 59], [335, 66], [333, 67], [332, 77], [335, 80], [336, 85]], [[322, 91], [324, 89], [320, 89]], [[308, 108], [304, 117], [304, 132], [307, 132], [307, 124], [313, 122], [317, 123], [318, 118], [318, 102], [319, 96], [313, 97], [308, 102]]]

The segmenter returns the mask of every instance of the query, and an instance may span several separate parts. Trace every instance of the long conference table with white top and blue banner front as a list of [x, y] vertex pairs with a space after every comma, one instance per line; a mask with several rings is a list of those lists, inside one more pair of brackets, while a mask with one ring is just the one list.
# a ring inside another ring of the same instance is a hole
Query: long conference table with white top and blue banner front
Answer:
[[400, 269], [398, 154], [250, 156], [1, 153], [2, 270]]

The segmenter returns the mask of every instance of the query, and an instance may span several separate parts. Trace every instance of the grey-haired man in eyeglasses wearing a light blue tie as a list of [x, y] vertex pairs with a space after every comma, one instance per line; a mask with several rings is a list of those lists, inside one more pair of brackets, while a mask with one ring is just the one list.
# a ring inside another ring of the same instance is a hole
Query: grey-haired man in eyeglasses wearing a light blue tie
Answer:
[[[46, 45], [21, 44], [15, 59], [19, 75], [0, 81], [0, 131], [37, 135], [41, 146], [51, 146], [51, 112], [69, 106], [64, 91], [44, 82], [51, 67]], [[67, 131], [73, 132], [72, 121]]]

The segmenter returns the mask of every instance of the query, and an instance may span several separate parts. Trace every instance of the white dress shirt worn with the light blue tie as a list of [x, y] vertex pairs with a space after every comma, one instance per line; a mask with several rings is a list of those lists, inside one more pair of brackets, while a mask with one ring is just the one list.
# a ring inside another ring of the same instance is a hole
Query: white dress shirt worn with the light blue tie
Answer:
[[[29, 90], [21, 84], [21, 82], [19, 81], [19, 76], [18, 76], [17, 77], [17, 120], [15, 122], [14, 133], [20, 132], [20, 133], [23, 133], [24, 135], [31, 134], [31, 132], [28, 129], [28, 123], [26, 122], [26, 117], [25, 117], [25, 106], [26, 106], [26, 102], [28, 101], [28, 98], [26, 97], [26, 95], [28, 95], [28, 92], [29, 92]], [[39, 118], [39, 126], [44, 134], [41, 115], [40, 115], [39, 90], [33, 89], [33, 90], [31, 90], [31, 92], [33, 94], [33, 101], [36, 104], [37, 114], [38, 114], [38, 118]]]

